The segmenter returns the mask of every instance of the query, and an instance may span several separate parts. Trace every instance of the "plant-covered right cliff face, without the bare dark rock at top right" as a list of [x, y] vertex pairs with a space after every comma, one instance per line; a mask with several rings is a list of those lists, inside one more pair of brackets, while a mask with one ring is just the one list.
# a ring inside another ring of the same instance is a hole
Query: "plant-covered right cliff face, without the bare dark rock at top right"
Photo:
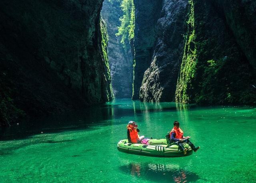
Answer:
[[186, 23], [176, 102], [255, 104], [252, 84], [256, 83], [256, 71], [238, 45], [225, 15], [206, 0], [190, 0]]

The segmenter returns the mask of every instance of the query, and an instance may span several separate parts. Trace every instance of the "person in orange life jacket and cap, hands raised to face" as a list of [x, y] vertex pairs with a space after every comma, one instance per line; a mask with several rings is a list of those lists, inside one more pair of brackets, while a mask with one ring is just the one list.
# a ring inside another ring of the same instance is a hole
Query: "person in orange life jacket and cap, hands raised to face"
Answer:
[[129, 121], [127, 125], [127, 138], [129, 143], [138, 143], [144, 136], [139, 136], [140, 130], [137, 128], [137, 124], [134, 121]]

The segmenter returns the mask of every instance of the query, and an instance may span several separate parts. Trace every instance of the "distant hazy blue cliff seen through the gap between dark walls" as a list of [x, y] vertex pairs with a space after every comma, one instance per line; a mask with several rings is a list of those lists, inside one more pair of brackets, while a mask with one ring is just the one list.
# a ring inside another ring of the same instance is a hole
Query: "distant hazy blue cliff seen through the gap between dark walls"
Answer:
[[130, 47], [124, 48], [121, 37], [116, 36], [123, 16], [120, 0], [105, 0], [102, 18], [108, 30], [108, 58], [111, 70], [112, 88], [116, 98], [132, 98], [133, 60]]

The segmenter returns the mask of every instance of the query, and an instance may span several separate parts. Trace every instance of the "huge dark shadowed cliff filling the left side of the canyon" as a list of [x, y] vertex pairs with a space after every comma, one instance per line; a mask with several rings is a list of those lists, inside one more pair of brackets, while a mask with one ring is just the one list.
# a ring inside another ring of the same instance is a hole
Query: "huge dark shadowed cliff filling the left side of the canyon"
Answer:
[[111, 100], [102, 1], [0, 1], [2, 123]]

